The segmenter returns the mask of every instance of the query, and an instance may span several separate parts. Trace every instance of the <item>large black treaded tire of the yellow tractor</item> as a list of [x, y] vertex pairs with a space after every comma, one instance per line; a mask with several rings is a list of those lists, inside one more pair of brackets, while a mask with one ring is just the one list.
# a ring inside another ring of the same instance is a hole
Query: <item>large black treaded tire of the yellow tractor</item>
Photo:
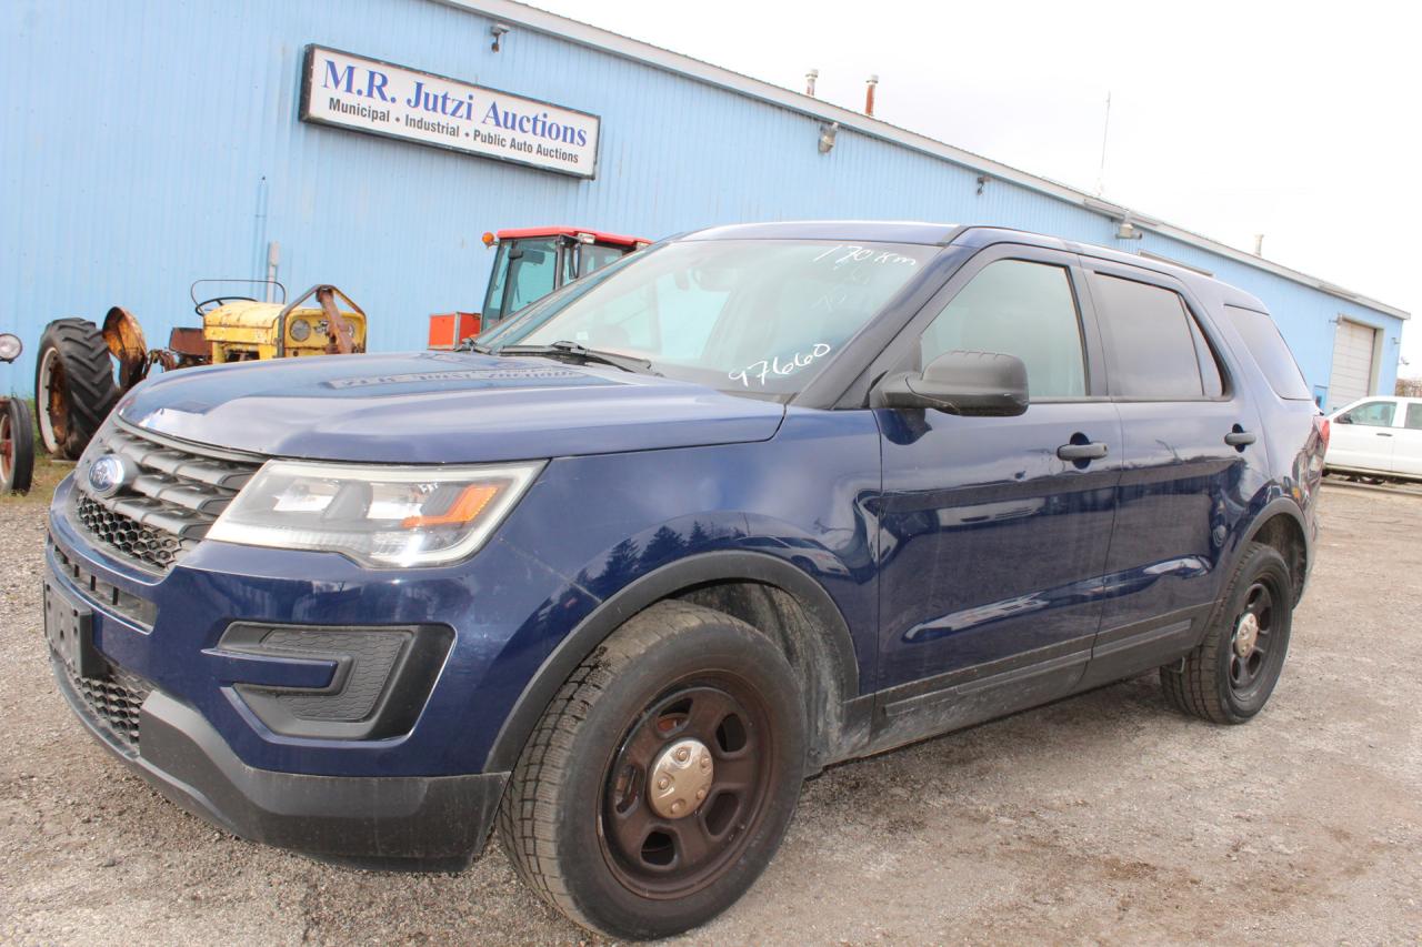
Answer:
[[44, 327], [34, 363], [34, 410], [46, 451], [77, 461], [118, 394], [98, 326], [87, 319], [57, 319]]

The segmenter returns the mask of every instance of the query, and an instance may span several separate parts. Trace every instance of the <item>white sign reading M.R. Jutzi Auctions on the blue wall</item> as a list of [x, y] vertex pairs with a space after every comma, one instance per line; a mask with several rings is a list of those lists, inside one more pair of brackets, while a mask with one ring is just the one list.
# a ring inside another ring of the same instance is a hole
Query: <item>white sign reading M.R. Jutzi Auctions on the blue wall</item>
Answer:
[[301, 121], [576, 178], [596, 173], [602, 125], [587, 112], [321, 46], [306, 47]]

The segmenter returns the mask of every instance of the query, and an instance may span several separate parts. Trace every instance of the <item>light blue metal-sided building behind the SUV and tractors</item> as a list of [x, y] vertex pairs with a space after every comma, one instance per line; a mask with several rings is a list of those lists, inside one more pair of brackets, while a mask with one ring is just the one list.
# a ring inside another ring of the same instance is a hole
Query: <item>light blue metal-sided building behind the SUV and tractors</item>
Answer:
[[[479, 307], [485, 230], [573, 223], [660, 237], [805, 218], [991, 223], [1155, 255], [1263, 299], [1330, 407], [1395, 382], [1398, 309], [506, 0], [11, 0], [0, 26], [0, 328], [28, 346], [0, 365], [0, 390], [31, 391], [51, 319], [101, 320], [124, 304], [162, 344], [169, 327], [196, 324], [189, 283], [262, 277], [269, 262], [292, 290], [350, 291], [371, 317], [373, 350], [417, 348], [429, 313]], [[495, 26], [508, 28], [498, 51]], [[596, 115], [596, 176], [301, 121], [309, 44]]]

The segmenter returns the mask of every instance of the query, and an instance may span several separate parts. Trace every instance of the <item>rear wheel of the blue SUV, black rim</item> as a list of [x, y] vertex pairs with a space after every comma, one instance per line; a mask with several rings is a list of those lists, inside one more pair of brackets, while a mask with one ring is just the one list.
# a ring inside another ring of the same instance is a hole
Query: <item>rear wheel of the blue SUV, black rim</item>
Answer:
[[[1273, 546], [1250, 543], [1204, 640], [1185, 657], [1183, 667], [1160, 668], [1166, 701], [1213, 724], [1251, 719], [1264, 710], [1284, 668], [1293, 610], [1288, 563]], [[1241, 653], [1244, 647], [1247, 654]]]

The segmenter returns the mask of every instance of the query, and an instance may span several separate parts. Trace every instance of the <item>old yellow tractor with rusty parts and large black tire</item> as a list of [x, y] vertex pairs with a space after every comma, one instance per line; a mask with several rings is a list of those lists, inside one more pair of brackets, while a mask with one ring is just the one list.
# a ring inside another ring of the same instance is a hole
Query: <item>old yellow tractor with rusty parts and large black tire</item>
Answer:
[[[198, 299], [199, 286], [237, 282], [269, 286], [269, 296], [280, 293], [280, 301], [252, 296]], [[46, 449], [77, 459], [119, 395], [155, 367], [172, 371], [365, 351], [365, 311], [328, 283], [313, 286], [290, 303], [286, 287], [274, 280], [198, 280], [188, 291], [202, 327], [173, 328], [166, 348], [149, 348], [144, 327], [122, 306], [108, 310], [102, 328], [82, 319], [60, 319], [46, 327], [34, 377]]]

